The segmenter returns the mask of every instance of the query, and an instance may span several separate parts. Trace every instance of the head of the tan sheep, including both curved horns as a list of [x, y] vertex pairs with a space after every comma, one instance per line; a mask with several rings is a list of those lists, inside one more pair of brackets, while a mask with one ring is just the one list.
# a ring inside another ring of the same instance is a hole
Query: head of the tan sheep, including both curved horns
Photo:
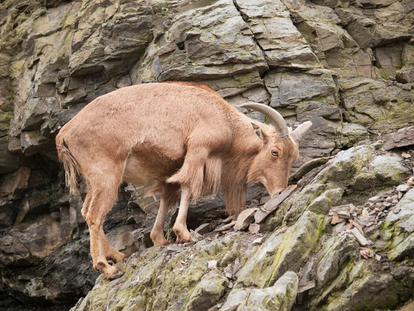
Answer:
[[271, 123], [271, 126], [252, 123], [263, 147], [248, 171], [248, 182], [260, 182], [274, 198], [288, 186], [290, 168], [299, 157], [299, 142], [311, 129], [312, 122], [304, 122], [290, 131], [282, 115], [269, 106], [248, 103], [241, 107], [263, 113]]

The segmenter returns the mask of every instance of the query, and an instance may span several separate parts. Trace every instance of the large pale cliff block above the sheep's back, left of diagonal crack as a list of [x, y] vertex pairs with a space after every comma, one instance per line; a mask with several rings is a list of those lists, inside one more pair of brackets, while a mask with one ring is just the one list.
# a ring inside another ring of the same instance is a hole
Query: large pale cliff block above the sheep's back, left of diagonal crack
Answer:
[[150, 51], [143, 63], [144, 81], [217, 79], [268, 68], [251, 30], [228, 0], [175, 15], [168, 33], [156, 38]]

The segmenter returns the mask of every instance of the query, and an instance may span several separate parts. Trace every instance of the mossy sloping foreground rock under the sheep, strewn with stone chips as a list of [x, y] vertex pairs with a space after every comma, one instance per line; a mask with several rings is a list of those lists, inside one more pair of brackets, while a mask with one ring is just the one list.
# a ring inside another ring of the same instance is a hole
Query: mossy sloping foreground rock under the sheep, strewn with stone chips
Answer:
[[[376, 170], [380, 157], [393, 164], [383, 175]], [[375, 145], [341, 151], [299, 180], [270, 214], [261, 245], [253, 243], [256, 235], [231, 231], [206, 234], [194, 245], [151, 247], [118, 264], [126, 271], [120, 279], [99, 276], [72, 311], [396, 308], [414, 294], [414, 189], [387, 204], [412, 174], [406, 164], [413, 163]], [[384, 182], [360, 183], [362, 174]], [[335, 189], [335, 200], [328, 200], [328, 189]], [[331, 225], [331, 207], [349, 203], [357, 205], [349, 223]], [[362, 257], [364, 249], [372, 256]]]

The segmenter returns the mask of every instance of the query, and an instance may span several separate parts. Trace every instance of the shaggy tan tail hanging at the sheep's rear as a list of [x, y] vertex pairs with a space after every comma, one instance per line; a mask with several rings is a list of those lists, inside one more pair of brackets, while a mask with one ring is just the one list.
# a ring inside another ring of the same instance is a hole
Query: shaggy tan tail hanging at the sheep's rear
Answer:
[[71, 194], [75, 194], [75, 191], [77, 190], [77, 175], [80, 175], [81, 173], [79, 164], [70, 152], [68, 144], [61, 135], [57, 135], [56, 137], [56, 149], [59, 161], [62, 162], [63, 167], [65, 167], [66, 186], [69, 187]]

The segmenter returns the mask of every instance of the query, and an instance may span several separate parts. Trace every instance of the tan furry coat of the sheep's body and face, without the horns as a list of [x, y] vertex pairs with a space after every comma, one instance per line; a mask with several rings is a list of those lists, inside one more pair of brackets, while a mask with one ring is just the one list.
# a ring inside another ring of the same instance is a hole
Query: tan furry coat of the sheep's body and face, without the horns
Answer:
[[[260, 127], [263, 140], [251, 122]], [[297, 142], [278, 139], [273, 126], [250, 120], [211, 88], [193, 82], [129, 86], [98, 97], [63, 126], [56, 143], [71, 191], [77, 173], [88, 185], [82, 214], [90, 228], [94, 267], [107, 279], [120, 272], [106, 259], [124, 259], [102, 229], [123, 180], [155, 185], [150, 193], [161, 194], [151, 238], [165, 245], [166, 211], [180, 189], [173, 230], [177, 241], [185, 242], [190, 196], [196, 200], [221, 188], [228, 213], [238, 214], [246, 204], [248, 182], [259, 181], [276, 196], [287, 186], [298, 156]], [[273, 149], [279, 157], [271, 155]]]

